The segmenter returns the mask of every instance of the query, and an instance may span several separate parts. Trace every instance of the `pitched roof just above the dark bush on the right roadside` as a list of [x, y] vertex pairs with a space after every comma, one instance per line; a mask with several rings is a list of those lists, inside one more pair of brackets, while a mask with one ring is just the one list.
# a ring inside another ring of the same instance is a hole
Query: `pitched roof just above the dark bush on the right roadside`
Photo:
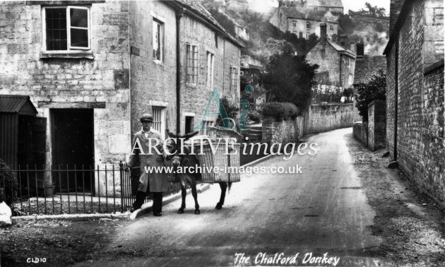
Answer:
[[355, 60], [354, 84], [368, 83], [382, 69], [386, 73], [386, 57], [364, 55]]

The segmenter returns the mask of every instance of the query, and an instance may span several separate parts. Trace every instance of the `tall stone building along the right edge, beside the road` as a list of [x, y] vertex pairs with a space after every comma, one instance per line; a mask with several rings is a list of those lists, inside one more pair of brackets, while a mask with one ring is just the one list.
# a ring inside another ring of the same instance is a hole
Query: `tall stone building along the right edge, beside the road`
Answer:
[[445, 208], [443, 1], [391, 1], [386, 55], [386, 148]]

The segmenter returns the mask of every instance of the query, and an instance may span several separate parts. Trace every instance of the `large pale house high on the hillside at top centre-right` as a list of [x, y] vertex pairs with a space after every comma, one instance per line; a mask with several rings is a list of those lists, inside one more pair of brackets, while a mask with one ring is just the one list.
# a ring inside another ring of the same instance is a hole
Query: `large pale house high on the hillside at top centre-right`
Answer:
[[299, 38], [309, 39], [309, 35], [320, 35], [320, 23], [326, 23], [328, 37], [338, 34], [337, 17], [328, 11], [299, 10], [295, 7], [279, 6], [269, 22], [282, 32], [294, 32]]

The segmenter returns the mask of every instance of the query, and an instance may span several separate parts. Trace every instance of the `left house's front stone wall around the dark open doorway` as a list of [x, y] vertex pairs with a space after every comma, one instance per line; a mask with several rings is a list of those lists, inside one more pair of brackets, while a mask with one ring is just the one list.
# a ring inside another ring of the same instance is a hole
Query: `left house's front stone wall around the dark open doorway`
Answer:
[[0, 5], [0, 94], [29, 95], [37, 116], [47, 117], [47, 166], [52, 164], [50, 110], [97, 103], [105, 107], [94, 109], [95, 164], [124, 160], [130, 140], [128, 3], [90, 5], [91, 52], [80, 58], [42, 50], [39, 2]]

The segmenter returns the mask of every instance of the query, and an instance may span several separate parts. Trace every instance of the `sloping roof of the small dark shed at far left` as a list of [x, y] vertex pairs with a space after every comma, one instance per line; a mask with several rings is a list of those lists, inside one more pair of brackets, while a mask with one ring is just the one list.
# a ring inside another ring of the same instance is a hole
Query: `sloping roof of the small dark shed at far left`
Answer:
[[28, 95], [0, 95], [0, 112], [35, 115], [37, 109]]

